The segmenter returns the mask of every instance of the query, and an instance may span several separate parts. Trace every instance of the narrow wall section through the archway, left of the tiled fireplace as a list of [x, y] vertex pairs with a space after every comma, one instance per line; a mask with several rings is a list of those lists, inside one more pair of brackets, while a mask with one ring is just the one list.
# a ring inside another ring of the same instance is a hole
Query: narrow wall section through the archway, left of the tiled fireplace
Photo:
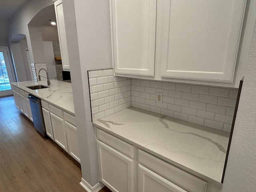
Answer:
[[57, 80], [52, 42], [43, 41], [43, 45], [44, 45], [44, 54], [45, 54], [44, 59], [47, 65], [47, 72], [48, 72], [49, 79]]

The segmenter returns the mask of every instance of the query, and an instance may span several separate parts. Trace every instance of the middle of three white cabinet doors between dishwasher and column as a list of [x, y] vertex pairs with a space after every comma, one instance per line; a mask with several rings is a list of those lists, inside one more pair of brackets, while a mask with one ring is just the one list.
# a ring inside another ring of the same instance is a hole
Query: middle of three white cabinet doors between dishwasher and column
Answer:
[[56, 116], [51, 112], [50, 112], [50, 116], [52, 120], [52, 130], [54, 134], [54, 141], [66, 152], [68, 152], [64, 119]]

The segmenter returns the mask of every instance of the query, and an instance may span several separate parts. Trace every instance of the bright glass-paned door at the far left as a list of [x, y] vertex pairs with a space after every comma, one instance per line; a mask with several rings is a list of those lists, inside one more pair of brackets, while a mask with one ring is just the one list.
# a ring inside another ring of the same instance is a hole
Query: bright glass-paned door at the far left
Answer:
[[0, 97], [12, 94], [10, 82], [14, 82], [8, 47], [0, 47]]

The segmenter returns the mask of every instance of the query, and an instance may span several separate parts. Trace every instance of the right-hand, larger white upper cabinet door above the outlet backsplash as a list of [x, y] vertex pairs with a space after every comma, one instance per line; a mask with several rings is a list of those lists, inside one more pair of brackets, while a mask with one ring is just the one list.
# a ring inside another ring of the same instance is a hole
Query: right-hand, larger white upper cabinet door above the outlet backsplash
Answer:
[[232, 82], [246, 0], [158, 0], [162, 78]]

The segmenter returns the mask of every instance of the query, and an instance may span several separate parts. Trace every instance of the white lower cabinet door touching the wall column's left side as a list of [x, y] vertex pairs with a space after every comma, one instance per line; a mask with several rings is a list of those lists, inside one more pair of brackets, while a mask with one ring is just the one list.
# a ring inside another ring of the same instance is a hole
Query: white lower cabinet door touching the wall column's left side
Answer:
[[80, 155], [78, 149], [78, 140], [76, 126], [65, 122], [66, 136], [68, 142], [68, 153], [78, 162], [80, 162]]

